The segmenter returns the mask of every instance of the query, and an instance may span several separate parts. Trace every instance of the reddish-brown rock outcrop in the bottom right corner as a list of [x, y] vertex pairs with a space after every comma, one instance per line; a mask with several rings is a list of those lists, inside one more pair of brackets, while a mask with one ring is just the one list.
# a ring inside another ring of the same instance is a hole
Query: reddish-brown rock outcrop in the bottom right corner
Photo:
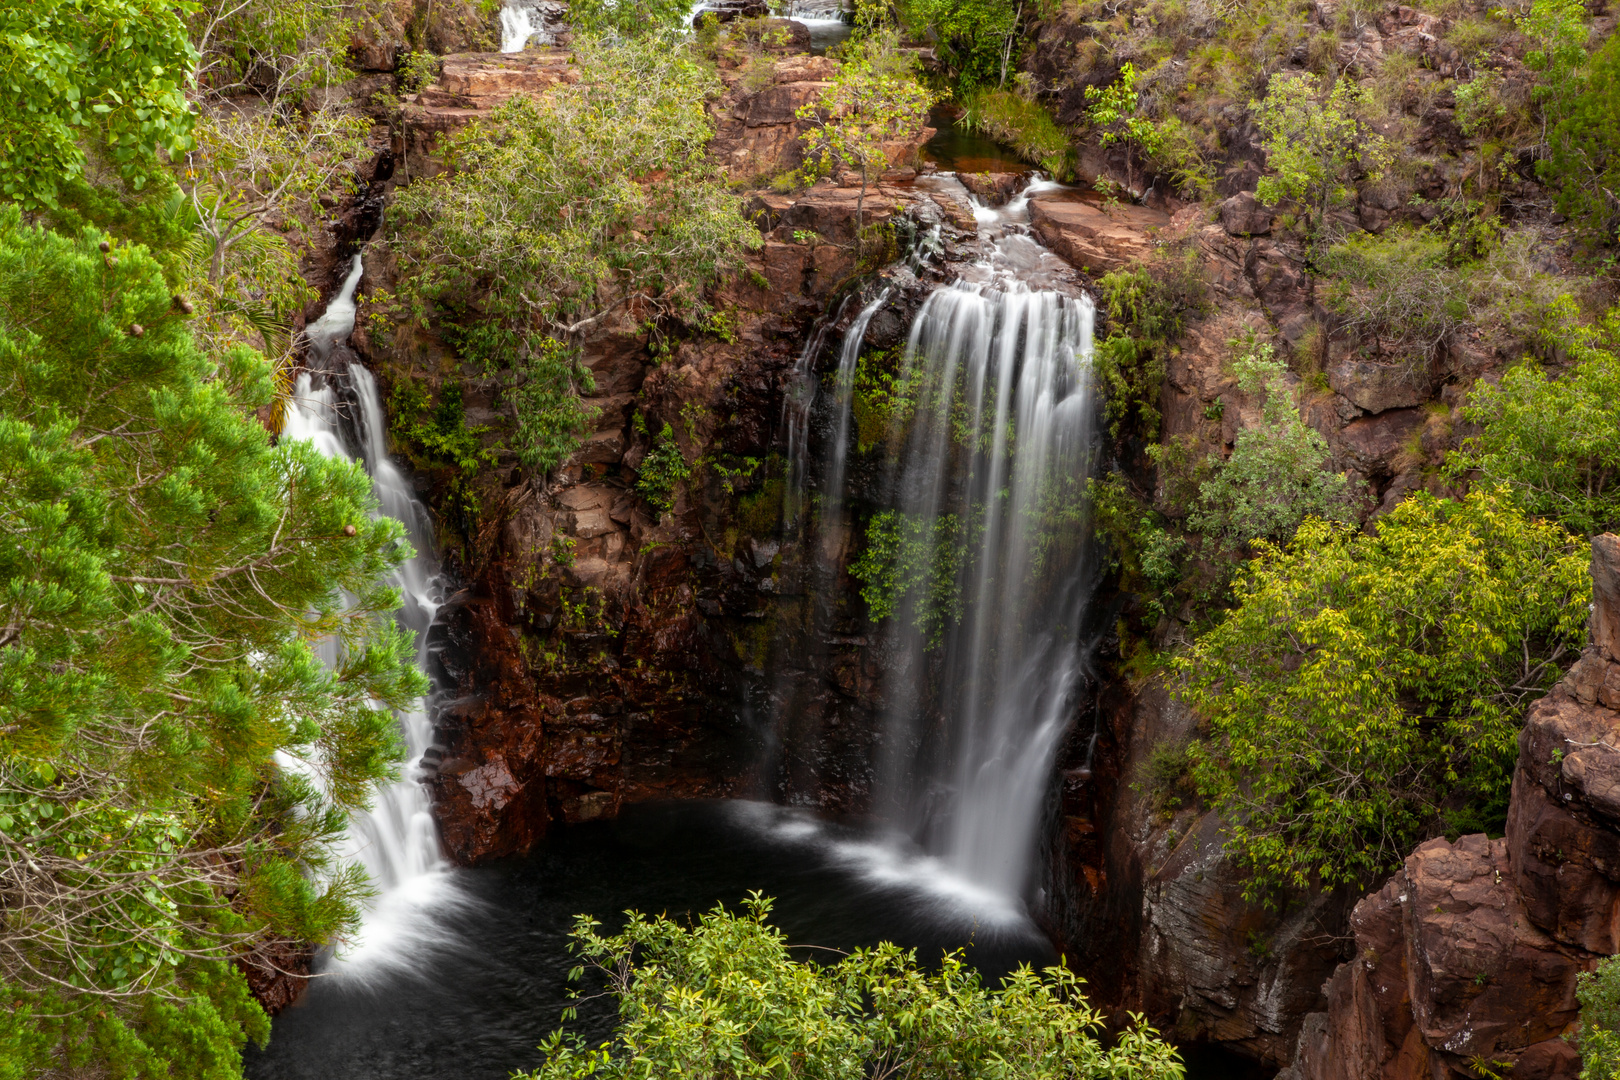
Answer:
[[1592, 541], [1592, 644], [1520, 733], [1507, 836], [1429, 840], [1356, 905], [1286, 1080], [1573, 1078], [1575, 980], [1620, 949], [1620, 538]]

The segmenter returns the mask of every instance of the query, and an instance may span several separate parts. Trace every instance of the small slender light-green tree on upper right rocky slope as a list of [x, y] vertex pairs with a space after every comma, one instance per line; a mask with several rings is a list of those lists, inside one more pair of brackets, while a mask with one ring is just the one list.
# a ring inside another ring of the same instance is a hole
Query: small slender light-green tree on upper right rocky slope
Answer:
[[1390, 147], [1361, 118], [1362, 91], [1349, 78], [1325, 96], [1309, 71], [1273, 74], [1264, 102], [1249, 102], [1264, 134], [1267, 175], [1256, 196], [1267, 206], [1299, 204], [1306, 261], [1322, 233], [1327, 212], [1346, 201], [1353, 181], [1377, 180], [1390, 164]]

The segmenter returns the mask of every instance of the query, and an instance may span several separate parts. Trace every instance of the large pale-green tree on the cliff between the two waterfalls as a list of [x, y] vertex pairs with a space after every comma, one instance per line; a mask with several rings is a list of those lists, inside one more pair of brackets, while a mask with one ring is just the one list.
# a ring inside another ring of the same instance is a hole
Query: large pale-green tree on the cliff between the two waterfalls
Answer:
[[760, 244], [708, 160], [719, 78], [674, 37], [575, 45], [580, 81], [514, 97], [449, 139], [452, 168], [403, 188], [389, 243], [402, 295], [512, 384], [518, 458], [578, 445], [593, 387], [569, 345], [608, 314], [695, 319]]

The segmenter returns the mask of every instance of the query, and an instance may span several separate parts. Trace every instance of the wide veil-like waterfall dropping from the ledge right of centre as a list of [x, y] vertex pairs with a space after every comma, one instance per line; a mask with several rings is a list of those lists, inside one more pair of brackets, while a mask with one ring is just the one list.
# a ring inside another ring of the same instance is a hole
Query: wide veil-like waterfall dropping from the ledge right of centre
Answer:
[[[912, 321], [878, 521], [901, 597], [883, 630], [875, 801], [949, 874], [1003, 897], [1030, 884], [1092, 585], [1094, 306], [1076, 288], [1032, 287], [1063, 270], [1027, 235], [1027, 198], [977, 207], [985, 257]], [[833, 515], [859, 350], [846, 338], [823, 471]]]

